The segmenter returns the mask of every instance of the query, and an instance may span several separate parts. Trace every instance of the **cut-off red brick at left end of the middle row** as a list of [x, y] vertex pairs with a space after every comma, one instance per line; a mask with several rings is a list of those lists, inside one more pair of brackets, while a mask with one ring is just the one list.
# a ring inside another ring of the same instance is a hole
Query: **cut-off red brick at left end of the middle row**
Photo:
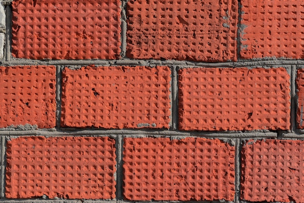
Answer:
[[54, 66], [0, 67], [0, 127], [56, 125]]

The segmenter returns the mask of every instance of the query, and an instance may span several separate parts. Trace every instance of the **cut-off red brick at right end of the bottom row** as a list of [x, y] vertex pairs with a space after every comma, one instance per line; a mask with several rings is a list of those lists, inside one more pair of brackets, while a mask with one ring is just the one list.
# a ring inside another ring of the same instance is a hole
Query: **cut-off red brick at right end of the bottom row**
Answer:
[[304, 141], [249, 141], [242, 149], [241, 199], [304, 202]]

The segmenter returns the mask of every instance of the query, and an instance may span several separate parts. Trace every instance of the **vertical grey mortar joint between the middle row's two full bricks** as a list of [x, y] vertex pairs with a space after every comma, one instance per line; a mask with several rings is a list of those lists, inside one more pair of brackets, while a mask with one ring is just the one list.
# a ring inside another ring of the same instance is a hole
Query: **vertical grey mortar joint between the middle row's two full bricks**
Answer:
[[171, 130], [178, 129], [177, 68], [176, 66], [171, 68]]

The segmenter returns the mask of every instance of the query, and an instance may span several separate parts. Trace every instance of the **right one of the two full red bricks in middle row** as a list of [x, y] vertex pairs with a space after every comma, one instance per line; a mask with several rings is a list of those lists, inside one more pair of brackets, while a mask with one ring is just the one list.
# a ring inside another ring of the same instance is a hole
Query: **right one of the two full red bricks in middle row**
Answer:
[[179, 128], [289, 129], [289, 85], [284, 68], [180, 69]]

